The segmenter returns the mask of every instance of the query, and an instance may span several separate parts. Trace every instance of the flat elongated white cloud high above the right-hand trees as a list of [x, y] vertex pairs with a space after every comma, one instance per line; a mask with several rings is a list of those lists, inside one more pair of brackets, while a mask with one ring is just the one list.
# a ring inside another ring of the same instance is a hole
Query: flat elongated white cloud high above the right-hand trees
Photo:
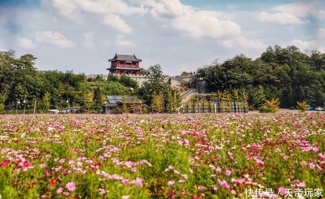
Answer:
[[304, 21], [300, 20], [298, 17], [287, 12], [278, 12], [275, 14], [268, 14], [266, 12], [260, 12], [256, 14], [256, 18], [260, 21], [274, 21], [281, 24], [293, 23], [293, 24], [303, 24]]

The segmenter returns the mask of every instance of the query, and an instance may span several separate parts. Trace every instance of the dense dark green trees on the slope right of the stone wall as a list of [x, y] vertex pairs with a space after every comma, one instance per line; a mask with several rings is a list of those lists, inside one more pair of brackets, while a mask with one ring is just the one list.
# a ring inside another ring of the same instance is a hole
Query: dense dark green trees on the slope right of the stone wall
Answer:
[[266, 99], [279, 98], [281, 107], [308, 104], [323, 106], [325, 101], [325, 54], [318, 50], [302, 53], [296, 46], [269, 46], [256, 60], [243, 54], [197, 70], [211, 91], [246, 88], [250, 104], [254, 103], [259, 85]]

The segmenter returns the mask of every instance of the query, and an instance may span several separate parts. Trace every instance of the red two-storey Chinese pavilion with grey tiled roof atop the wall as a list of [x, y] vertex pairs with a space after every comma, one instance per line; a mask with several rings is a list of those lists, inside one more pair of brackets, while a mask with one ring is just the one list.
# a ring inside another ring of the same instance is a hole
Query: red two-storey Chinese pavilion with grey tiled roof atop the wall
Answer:
[[143, 68], [139, 68], [139, 62], [142, 60], [136, 59], [136, 56], [133, 55], [118, 55], [115, 54], [113, 59], [110, 61], [110, 68], [107, 70], [110, 71], [110, 74], [140, 74], [140, 71]]

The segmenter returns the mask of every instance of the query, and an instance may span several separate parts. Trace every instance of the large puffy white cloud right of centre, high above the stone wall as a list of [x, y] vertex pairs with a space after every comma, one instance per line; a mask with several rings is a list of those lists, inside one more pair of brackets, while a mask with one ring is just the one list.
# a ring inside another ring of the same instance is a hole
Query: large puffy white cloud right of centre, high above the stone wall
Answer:
[[210, 36], [213, 38], [224, 35], [240, 34], [240, 26], [230, 20], [219, 20], [220, 12], [198, 11], [193, 14], [176, 17], [173, 27], [187, 32], [192, 37]]

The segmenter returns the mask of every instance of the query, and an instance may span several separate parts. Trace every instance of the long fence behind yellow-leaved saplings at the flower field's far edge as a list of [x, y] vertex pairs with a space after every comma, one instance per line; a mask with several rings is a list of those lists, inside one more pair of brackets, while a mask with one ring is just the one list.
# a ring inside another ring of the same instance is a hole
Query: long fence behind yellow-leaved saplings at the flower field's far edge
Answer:
[[236, 102], [183, 102], [183, 113], [248, 113], [248, 103]]

